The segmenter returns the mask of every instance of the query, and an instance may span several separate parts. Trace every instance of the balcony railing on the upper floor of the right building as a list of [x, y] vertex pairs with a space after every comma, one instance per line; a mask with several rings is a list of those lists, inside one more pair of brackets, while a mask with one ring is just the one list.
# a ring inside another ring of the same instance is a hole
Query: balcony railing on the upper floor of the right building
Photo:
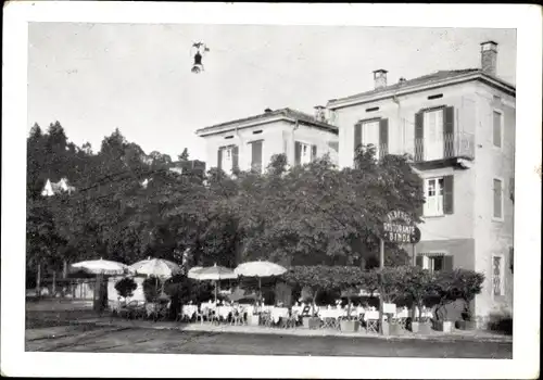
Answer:
[[435, 139], [415, 139], [414, 162], [430, 162], [447, 159], [475, 159], [475, 136], [471, 134], [442, 135]]

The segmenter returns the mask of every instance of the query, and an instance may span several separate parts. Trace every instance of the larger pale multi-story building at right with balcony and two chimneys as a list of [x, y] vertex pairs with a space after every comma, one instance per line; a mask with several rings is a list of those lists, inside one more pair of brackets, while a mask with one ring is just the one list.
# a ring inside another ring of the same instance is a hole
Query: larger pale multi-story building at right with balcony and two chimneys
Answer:
[[481, 43], [481, 68], [440, 71], [330, 100], [340, 167], [359, 144], [408, 153], [425, 183], [419, 265], [485, 275], [472, 311], [512, 313], [515, 86], [496, 76], [497, 43]]

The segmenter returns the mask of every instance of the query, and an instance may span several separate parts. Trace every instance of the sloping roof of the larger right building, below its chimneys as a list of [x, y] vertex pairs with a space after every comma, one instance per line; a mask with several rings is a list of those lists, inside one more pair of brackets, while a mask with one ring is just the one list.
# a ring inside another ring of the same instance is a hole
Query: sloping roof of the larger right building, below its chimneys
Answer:
[[508, 84], [508, 83], [504, 81], [503, 79], [500, 79], [495, 76], [483, 73], [480, 68], [446, 69], [446, 71], [439, 71], [439, 72], [435, 72], [432, 74], [422, 75], [422, 76], [419, 76], [417, 78], [413, 78], [409, 80], [400, 81], [400, 83], [396, 83], [394, 85], [390, 85], [390, 86], [387, 86], [383, 88], [374, 89], [374, 90], [356, 93], [356, 94], [340, 98], [340, 99], [330, 99], [328, 101], [328, 103], [330, 104], [330, 103], [338, 102], [338, 101], [348, 101], [348, 100], [354, 100], [354, 99], [364, 98], [364, 97], [376, 96], [376, 94], [379, 94], [380, 92], [386, 92], [386, 91], [391, 91], [391, 90], [393, 91], [393, 90], [401, 90], [404, 88], [416, 87], [416, 86], [421, 86], [421, 85], [431, 85], [434, 83], [454, 79], [454, 78], [467, 76], [470, 74], [484, 75], [484, 76], [490, 77], [494, 80], [497, 80], [498, 83], [501, 83], [507, 87], [510, 87], [512, 89], [515, 89], [515, 86], [513, 86], [513, 85], [510, 85], [510, 84]]

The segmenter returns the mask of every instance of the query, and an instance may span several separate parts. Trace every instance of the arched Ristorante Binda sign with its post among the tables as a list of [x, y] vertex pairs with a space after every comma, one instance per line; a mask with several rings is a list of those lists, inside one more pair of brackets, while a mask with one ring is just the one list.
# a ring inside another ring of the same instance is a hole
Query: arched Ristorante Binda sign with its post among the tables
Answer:
[[[420, 241], [420, 230], [413, 218], [403, 211], [391, 211], [382, 224], [382, 233], [380, 237], [379, 267], [384, 267], [384, 241], [397, 244], [413, 244], [413, 266], [416, 265], [415, 244]], [[379, 292], [379, 332], [382, 334], [383, 325], [383, 299], [382, 292]]]

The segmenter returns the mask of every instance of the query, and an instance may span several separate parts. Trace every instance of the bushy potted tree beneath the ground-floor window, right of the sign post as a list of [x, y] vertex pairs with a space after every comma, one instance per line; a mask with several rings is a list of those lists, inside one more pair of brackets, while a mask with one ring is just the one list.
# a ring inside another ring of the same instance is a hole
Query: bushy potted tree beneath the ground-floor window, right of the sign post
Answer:
[[[432, 294], [433, 283], [432, 275], [429, 270], [420, 267], [405, 267], [404, 280], [406, 295], [413, 301], [413, 311], [408, 329], [414, 333], [429, 333], [431, 324], [428, 318], [422, 316], [424, 301]], [[415, 309], [418, 309], [418, 314]]]

